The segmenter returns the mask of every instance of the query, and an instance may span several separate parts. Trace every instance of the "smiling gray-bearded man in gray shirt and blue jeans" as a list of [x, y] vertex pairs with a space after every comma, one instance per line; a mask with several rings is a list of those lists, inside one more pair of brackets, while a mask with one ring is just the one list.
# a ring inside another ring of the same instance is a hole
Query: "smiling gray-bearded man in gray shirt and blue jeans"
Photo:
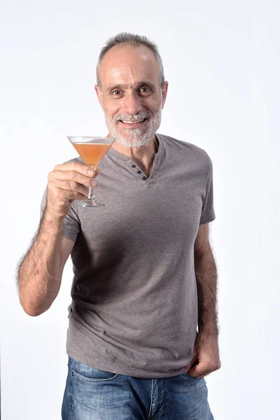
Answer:
[[[167, 88], [154, 43], [111, 38], [95, 90], [116, 141], [96, 180], [80, 158], [48, 175], [18, 283], [27, 314], [42, 314], [71, 254], [64, 420], [213, 419], [204, 380], [220, 367], [212, 165], [197, 146], [157, 133]], [[106, 207], [78, 207], [90, 186]]]

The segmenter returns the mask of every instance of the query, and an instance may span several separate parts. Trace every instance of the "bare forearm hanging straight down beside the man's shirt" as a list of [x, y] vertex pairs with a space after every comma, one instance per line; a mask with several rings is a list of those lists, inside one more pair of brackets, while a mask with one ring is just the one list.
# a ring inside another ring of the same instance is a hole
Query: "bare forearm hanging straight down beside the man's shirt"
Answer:
[[198, 330], [207, 336], [218, 336], [217, 270], [211, 248], [195, 259], [197, 279]]

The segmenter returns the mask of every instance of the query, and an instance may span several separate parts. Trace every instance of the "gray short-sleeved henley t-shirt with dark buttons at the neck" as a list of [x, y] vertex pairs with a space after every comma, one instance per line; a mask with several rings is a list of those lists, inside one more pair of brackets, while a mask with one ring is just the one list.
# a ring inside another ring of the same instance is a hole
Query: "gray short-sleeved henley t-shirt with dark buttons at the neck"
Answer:
[[64, 237], [75, 241], [66, 351], [97, 369], [143, 378], [184, 373], [193, 357], [193, 248], [199, 225], [215, 219], [207, 153], [156, 137], [148, 179], [111, 148], [94, 189], [106, 207], [73, 202], [64, 219]]

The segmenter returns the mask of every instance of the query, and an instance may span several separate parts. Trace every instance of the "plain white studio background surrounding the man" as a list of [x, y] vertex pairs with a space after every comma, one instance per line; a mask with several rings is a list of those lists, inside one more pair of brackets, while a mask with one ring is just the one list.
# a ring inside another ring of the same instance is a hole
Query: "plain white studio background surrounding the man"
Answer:
[[159, 132], [204, 148], [214, 164], [215, 420], [278, 418], [279, 12], [276, 1], [2, 1], [2, 420], [60, 419], [71, 263], [52, 307], [35, 318], [18, 302], [15, 267], [48, 172], [76, 155], [66, 136], [107, 134], [95, 65], [120, 31], [160, 48], [169, 94]]

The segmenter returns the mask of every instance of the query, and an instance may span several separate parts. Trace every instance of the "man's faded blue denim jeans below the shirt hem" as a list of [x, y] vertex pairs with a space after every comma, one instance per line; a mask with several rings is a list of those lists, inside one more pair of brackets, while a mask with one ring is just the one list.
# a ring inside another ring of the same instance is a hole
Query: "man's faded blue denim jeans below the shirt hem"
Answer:
[[62, 420], [214, 420], [205, 379], [142, 379], [69, 357]]

